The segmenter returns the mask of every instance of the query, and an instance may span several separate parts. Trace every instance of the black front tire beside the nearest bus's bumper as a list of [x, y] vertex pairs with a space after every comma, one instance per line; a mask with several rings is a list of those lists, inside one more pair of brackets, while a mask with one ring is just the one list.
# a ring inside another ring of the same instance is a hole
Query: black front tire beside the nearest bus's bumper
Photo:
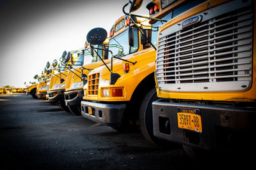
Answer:
[[167, 141], [156, 138], [153, 134], [152, 102], [159, 99], [156, 94], [156, 88], [151, 89], [144, 97], [139, 112], [140, 129], [143, 136], [156, 146], [167, 147], [170, 145]]

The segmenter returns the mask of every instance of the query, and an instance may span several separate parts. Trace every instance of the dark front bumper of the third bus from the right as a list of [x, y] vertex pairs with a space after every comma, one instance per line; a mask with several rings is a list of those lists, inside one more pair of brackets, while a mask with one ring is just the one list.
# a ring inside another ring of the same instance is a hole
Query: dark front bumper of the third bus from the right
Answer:
[[84, 96], [84, 90], [72, 90], [64, 92], [66, 106], [76, 106], [81, 104]]

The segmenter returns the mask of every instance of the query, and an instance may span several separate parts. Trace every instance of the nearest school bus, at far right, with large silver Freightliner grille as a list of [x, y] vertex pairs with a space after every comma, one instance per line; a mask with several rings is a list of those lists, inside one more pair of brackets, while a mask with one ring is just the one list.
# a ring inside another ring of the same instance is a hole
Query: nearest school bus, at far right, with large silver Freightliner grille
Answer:
[[254, 1], [159, 0], [147, 8], [151, 17], [167, 20], [156, 39], [154, 136], [183, 144], [189, 154], [250, 142]]

